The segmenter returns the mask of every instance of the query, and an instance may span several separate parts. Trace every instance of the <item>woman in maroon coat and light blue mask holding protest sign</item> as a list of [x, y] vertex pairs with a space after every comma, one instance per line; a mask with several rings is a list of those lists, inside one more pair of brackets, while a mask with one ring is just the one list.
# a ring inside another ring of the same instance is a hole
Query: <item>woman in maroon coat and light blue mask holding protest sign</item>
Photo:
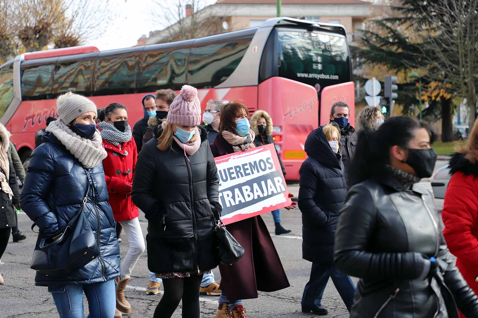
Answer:
[[[247, 119], [249, 110], [240, 103], [228, 103], [221, 108], [219, 134], [211, 151], [214, 157], [224, 156], [255, 147], [255, 133]], [[272, 292], [289, 287], [271, 235], [261, 216], [250, 217], [227, 225], [229, 233], [244, 247], [244, 256], [233, 265], [220, 265], [221, 289], [217, 318], [245, 318], [241, 299], [258, 297], [258, 290]]]

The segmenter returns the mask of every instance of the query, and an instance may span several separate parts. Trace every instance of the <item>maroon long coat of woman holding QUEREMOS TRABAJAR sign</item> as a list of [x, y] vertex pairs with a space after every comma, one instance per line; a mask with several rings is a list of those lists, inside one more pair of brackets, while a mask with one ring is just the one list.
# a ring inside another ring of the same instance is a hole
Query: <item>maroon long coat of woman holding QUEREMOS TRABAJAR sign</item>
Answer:
[[[233, 153], [221, 134], [214, 138], [214, 157]], [[219, 265], [220, 288], [229, 300], [257, 298], [257, 291], [273, 292], [290, 286], [271, 235], [260, 215], [226, 226], [244, 248], [244, 256], [233, 265]]]

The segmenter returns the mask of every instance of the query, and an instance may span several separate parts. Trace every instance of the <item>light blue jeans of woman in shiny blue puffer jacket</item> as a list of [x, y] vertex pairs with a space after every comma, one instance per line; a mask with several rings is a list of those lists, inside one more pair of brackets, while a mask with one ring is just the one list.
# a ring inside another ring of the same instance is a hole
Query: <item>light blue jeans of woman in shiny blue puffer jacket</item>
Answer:
[[87, 318], [112, 318], [115, 315], [115, 280], [87, 285], [50, 286], [60, 318], [83, 318], [83, 292], [87, 296]]

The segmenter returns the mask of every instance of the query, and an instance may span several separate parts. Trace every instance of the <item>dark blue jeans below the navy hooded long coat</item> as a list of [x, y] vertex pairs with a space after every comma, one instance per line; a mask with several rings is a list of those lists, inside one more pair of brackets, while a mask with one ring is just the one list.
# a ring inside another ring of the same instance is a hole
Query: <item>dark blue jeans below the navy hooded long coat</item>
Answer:
[[310, 280], [305, 285], [304, 294], [302, 294], [302, 306], [321, 306], [329, 276], [332, 278], [345, 306], [350, 311], [354, 301], [355, 285], [350, 277], [340, 273], [333, 263], [312, 263]]

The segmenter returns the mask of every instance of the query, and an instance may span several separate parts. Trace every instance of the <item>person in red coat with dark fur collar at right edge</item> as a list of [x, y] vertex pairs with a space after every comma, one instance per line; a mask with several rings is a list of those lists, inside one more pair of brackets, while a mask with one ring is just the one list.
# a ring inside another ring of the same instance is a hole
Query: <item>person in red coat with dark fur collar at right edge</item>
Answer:
[[[456, 267], [478, 295], [478, 121], [467, 146], [454, 153], [449, 163], [451, 180], [442, 211], [448, 249]], [[460, 317], [465, 317], [460, 313]]]

